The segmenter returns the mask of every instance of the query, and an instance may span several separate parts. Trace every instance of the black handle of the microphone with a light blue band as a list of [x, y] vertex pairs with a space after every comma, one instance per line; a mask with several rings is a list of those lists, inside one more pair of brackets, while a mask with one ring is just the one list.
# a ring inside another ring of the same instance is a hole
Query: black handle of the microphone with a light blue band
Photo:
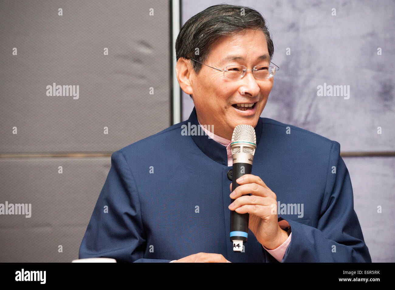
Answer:
[[[251, 174], [251, 169], [252, 165], [249, 163], [233, 163], [232, 191], [239, 186], [239, 183], [236, 182], [237, 178], [244, 174]], [[247, 242], [249, 217], [249, 213], [238, 213], [234, 210], [230, 211], [230, 241], [239, 240], [245, 243]]]

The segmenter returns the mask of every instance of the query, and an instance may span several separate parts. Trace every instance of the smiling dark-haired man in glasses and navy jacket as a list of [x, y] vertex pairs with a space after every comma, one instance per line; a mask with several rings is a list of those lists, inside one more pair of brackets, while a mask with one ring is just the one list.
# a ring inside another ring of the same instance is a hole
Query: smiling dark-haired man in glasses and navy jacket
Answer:
[[[243, 9], [211, 6], [182, 27], [176, 73], [195, 107], [188, 120], [111, 155], [79, 258], [371, 262], [340, 144], [260, 117], [276, 70], [273, 42], [260, 13]], [[195, 130], [200, 124], [215, 140]], [[227, 143], [238, 124], [254, 127], [257, 148], [230, 196]], [[242, 253], [229, 239], [231, 210], [250, 214]]]

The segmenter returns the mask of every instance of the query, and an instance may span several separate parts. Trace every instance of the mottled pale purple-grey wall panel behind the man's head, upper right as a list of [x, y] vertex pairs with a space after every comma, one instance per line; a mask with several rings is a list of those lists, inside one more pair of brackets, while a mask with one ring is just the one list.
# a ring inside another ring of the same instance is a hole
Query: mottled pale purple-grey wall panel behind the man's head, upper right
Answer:
[[[212, 1], [182, 1], [182, 24]], [[268, 21], [280, 67], [261, 116], [336, 140], [342, 151], [394, 151], [395, 2], [231, 1]], [[336, 16], [331, 9], [336, 8]], [[377, 55], [377, 48], [382, 55]], [[286, 49], [291, 54], [286, 55]], [[319, 97], [317, 86], [349, 85], [350, 98]], [[182, 93], [183, 120], [193, 102]], [[382, 135], [377, 127], [382, 127]]]

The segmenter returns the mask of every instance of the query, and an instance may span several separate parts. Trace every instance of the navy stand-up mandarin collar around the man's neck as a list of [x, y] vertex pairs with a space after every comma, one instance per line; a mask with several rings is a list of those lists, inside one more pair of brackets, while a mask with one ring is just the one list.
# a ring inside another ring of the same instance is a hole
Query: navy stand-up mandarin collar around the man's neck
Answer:
[[[188, 122], [190, 122], [191, 126], [196, 125], [199, 126], [198, 117], [196, 115], [196, 109], [192, 110], [188, 120], [186, 120], [186, 125], [188, 126]], [[188, 126], [189, 127], [189, 126]], [[255, 126], [255, 134], [256, 134], [256, 144], [258, 146], [259, 140], [262, 134], [262, 120], [258, 119], [258, 123]], [[215, 128], [214, 132], [215, 134]], [[215, 162], [218, 162], [222, 165], [228, 167], [228, 152], [226, 151], [226, 147], [211, 138], [208, 138], [207, 135], [191, 135], [195, 144], [199, 147], [199, 149], [205, 153], [208, 157], [213, 159]]]

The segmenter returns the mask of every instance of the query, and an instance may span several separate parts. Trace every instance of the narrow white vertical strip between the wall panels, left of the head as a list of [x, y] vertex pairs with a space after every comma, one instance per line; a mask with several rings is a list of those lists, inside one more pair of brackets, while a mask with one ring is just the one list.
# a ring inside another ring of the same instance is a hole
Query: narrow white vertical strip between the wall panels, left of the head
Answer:
[[172, 43], [173, 43], [173, 124], [177, 124], [181, 122], [181, 89], [180, 85], [177, 81], [177, 76], [175, 74], [175, 65], [176, 65], [176, 54], [175, 54], [175, 41], [177, 39], [178, 33], [180, 32], [180, 2], [179, 0], [172, 0], [171, 1], [172, 7]]

